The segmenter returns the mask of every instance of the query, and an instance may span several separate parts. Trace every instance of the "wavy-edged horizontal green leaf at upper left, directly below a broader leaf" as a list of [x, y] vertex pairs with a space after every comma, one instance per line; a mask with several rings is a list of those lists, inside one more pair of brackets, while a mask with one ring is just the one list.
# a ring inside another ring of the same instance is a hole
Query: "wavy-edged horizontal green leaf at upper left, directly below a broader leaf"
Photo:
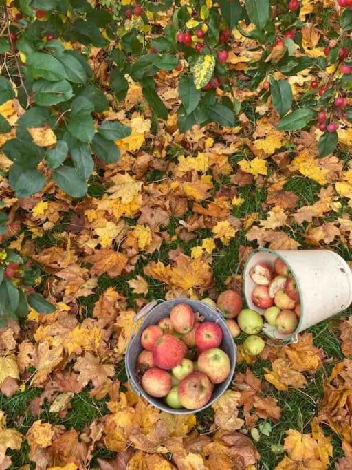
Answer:
[[67, 80], [51, 82], [44, 79], [34, 82], [34, 102], [41, 106], [52, 106], [70, 100], [74, 96]]

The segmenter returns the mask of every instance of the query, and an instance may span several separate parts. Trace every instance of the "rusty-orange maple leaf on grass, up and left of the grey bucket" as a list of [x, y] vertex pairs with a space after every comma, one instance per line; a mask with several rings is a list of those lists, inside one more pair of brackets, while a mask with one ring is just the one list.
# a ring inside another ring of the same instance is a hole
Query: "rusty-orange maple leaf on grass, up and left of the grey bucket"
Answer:
[[117, 253], [109, 248], [96, 250], [94, 255], [85, 259], [87, 263], [93, 264], [92, 274], [102, 275], [107, 273], [110, 277], [120, 276], [127, 264], [128, 258], [123, 253]]

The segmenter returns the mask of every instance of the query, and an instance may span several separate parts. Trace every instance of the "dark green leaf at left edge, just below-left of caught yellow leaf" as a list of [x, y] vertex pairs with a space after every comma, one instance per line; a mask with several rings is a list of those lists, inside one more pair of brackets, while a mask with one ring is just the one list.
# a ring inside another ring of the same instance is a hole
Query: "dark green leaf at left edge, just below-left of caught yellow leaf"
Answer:
[[28, 140], [10, 139], [1, 148], [5, 156], [23, 168], [35, 168], [44, 156], [43, 147]]

